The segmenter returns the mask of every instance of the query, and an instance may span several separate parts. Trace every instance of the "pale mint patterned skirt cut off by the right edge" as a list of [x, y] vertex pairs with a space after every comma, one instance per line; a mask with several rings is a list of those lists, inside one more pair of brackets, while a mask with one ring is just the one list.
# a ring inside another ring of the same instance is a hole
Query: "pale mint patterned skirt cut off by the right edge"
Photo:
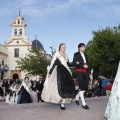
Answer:
[[120, 63], [104, 116], [107, 120], [120, 120]]

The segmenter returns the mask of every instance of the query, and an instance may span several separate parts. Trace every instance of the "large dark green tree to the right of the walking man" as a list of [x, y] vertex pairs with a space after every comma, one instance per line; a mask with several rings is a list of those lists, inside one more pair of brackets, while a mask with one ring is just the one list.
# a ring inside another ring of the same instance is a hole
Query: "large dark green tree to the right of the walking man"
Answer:
[[[88, 42], [86, 53], [96, 74], [99, 74], [98, 71], [107, 74], [114, 71], [115, 75], [115, 64], [120, 58], [120, 25], [93, 31], [93, 39]], [[111, 58], [114, 61], [109, 61]]]

